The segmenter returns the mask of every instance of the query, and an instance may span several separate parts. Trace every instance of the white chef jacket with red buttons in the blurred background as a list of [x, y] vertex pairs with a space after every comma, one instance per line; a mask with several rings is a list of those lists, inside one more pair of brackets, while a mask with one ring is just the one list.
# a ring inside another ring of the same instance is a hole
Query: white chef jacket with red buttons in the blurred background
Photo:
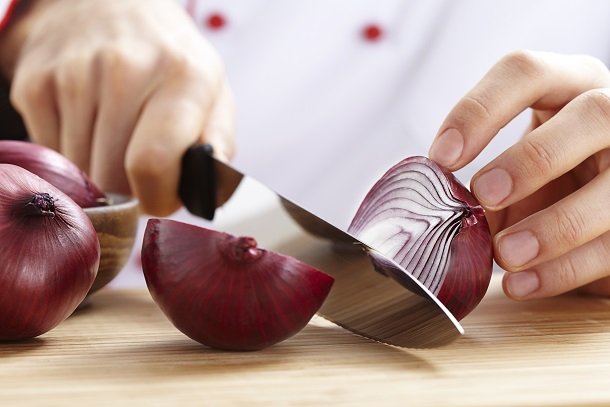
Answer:
[[[604, 0], [177, 1], [224, 60], [237, 106], [235, 165], [340, 227], [385, 170], [427, 153], [451, 107], [506, 53], [610, 60]], [[527, 116], [458, 176], [468, 183], [513, 144]], [[138, 252], [139, 242], [134, 259]], [[118, 284], [140, 281], [137, 264]]]

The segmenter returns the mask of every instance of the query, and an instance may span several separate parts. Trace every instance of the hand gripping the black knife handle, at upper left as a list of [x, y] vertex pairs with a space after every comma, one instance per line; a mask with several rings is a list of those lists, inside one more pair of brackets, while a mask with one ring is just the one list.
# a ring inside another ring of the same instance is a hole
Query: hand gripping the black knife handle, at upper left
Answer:
[[[4, 35], [5, 34], [5, 35]], [[31, 139], [142, 209], [180, 205], [195, 142], [233, 153], [233, 106], [218, 55], [172, 0], [33, 1], [3, 33], [2, 68]]]

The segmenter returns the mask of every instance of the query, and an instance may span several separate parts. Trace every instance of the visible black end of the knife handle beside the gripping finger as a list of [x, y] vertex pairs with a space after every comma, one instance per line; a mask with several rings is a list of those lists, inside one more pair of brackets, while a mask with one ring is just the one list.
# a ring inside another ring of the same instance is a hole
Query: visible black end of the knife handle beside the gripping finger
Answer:
[[182, 157], [178, 196], [193, 215], [212, 220], [216, 211], [216, 173], [210, 144], [189, 148]]

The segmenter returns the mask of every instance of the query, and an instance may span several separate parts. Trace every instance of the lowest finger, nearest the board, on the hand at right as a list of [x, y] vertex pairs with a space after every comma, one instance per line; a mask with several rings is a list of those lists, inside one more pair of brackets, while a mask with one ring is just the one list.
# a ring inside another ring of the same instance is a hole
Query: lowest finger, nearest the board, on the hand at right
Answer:
[[517, 300], [551, 297], [610, 275], [610, 233], [532, 269], [507, 272], [503, 287]]

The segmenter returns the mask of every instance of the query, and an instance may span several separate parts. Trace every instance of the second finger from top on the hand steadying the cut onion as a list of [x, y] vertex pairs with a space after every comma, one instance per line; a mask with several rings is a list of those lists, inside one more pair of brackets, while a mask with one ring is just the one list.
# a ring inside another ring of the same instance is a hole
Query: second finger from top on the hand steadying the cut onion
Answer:
[[491, 210], [518, 202], [610, 147], [610, 89], [577, 96], [472, 178], [472, 192]]

